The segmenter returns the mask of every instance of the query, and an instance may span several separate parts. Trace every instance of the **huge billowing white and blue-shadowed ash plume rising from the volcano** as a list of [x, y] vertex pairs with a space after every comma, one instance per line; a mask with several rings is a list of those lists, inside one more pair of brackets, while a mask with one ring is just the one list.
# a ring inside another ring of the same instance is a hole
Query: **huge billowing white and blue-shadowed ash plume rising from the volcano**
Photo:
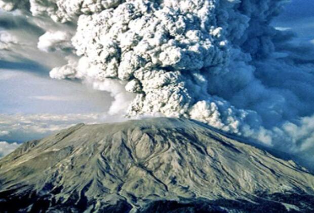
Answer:
[[314, 53], [270, 25], [284, 2], [2, 0], [0, 6], [76, 25], [73, 33], [46, 30], [37, 46], [75, 52], [50, 76], [110, 92], [110, 114], [195, 119], [314, 160]]

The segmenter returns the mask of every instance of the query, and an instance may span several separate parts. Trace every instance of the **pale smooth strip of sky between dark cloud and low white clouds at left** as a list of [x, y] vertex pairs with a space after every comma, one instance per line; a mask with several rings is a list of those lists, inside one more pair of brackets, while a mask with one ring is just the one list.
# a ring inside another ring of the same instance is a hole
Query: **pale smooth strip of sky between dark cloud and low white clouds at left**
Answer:
[[0, 70], [0, 91], [5, 91], [0, 93], [0, 114], [101, 113], [111, 101], [106, 93], [86, 90], [81, 83], [15, 69]]

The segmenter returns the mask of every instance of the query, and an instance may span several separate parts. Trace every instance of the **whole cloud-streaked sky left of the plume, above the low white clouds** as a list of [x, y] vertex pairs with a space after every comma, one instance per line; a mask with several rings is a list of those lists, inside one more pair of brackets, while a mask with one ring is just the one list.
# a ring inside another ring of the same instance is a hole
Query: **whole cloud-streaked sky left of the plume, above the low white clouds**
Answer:
[[[38, 50], [38, 37], [45, 31], [36, 21], [23, 14], [0, 12], [0, 114], [107, 111], [108, 94], [86, 89], [80, 82], [49, 77], [49, 71], [64, 65], [67, 56], [61, 51]], [[44, 28], [60, 27], [50, 19], [39, 21]]]

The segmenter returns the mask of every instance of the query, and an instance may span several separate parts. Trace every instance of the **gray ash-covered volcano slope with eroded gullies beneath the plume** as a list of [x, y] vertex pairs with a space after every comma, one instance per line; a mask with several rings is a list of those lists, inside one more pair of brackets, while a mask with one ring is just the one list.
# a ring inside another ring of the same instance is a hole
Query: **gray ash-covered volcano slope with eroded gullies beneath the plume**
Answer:
[[79, 124], [0, 160], [2, 212], [313, 211], [314, 176], [197, 122]]

